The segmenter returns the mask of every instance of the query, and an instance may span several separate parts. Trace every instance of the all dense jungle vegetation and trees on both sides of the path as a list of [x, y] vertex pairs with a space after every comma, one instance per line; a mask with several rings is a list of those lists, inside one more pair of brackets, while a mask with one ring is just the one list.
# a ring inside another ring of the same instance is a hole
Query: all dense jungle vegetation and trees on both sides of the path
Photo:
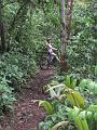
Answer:
[[54, 63], [57, 74], [44, 87], [48, 100], [39, 102], [46, 112], [39, 130], [97, 129], [96, 11], [96, 0], [0, 0], [0, 117], [13, 110], [15, 92], [40, 72], [52, 38], [66, 65]]

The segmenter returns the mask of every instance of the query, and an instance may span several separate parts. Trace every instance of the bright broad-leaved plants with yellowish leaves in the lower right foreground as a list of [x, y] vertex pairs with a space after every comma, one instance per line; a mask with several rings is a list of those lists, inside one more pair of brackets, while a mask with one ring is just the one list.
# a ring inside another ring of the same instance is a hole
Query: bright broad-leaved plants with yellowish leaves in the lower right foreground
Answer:
[[[74, 80], [74, 88], [71, 89], [72, 81]], [[47, 91], [50, 91], [54, 110], [52, 115], [46, 116], [44, 121], [40, 122], [40, 130], [51, 130], [54, 126], [58, 125], [63, 128], [63, 123], [59, 122], [66, 122], [67, 120], [70, 123], [64, 128], [66, 130], [95, 130], [96, 127], [92, 128], [92, 126], [96, 125], [97, 104], [94, 100], [87, 102], [93, 99], [89, 96], [91, 93], [96, 94], [91, 89], [93, 84], [96, 84], [96, 82], [92, 79], [83, 79], [78, 84], [77, 79], [70, 78], [70, 76], [66, 76], [65, 81], [61, 83], [57, 81], [51, 82], [47, 86]], [[85, 94], [85, 88], [89, 91], [88, 95]]]

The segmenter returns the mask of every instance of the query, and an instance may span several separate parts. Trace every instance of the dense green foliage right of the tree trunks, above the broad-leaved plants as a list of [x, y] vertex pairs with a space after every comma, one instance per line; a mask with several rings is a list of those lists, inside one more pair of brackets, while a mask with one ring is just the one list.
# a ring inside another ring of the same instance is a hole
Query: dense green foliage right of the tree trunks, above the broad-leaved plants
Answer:
[[71, 21], [71, 36], [67, 47], [71, 76], [94, 78], [97, 64], [95, 0], [87, 4], [74, 2]]

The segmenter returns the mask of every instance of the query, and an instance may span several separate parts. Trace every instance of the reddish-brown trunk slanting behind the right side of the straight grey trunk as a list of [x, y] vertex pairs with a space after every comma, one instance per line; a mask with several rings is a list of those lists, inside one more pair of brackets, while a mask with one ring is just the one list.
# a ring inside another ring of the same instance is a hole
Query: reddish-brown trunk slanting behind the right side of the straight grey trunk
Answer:
[[67, 14], [66, 14], [66, 41], [67, 41], [67, 43], [68, 43], [68, 39], [70, 36], [70, 22], [71, 22], [71, 16], [72, 16], [72, 3], [73, 3], [73, 0], [67, 1]]

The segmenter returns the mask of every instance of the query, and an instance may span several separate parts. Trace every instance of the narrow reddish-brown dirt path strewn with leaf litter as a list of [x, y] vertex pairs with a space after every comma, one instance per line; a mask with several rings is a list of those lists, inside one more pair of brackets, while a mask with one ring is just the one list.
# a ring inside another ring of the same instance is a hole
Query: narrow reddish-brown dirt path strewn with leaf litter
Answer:
[[38, 100], [46, 99], [46, 93], [42, 87], [46, 86], [51, 76], [55, 74], [54, 69], [40, 70], [40, 73], [28, 81], [22, 93], [18, 93], [18, 100], [14, 105], [14, 113], [11, 117], [4, 117], [1, 121], [0, 130], [39, 130], [39, 121], [45, 117], [43, 108], [39, 108]]

